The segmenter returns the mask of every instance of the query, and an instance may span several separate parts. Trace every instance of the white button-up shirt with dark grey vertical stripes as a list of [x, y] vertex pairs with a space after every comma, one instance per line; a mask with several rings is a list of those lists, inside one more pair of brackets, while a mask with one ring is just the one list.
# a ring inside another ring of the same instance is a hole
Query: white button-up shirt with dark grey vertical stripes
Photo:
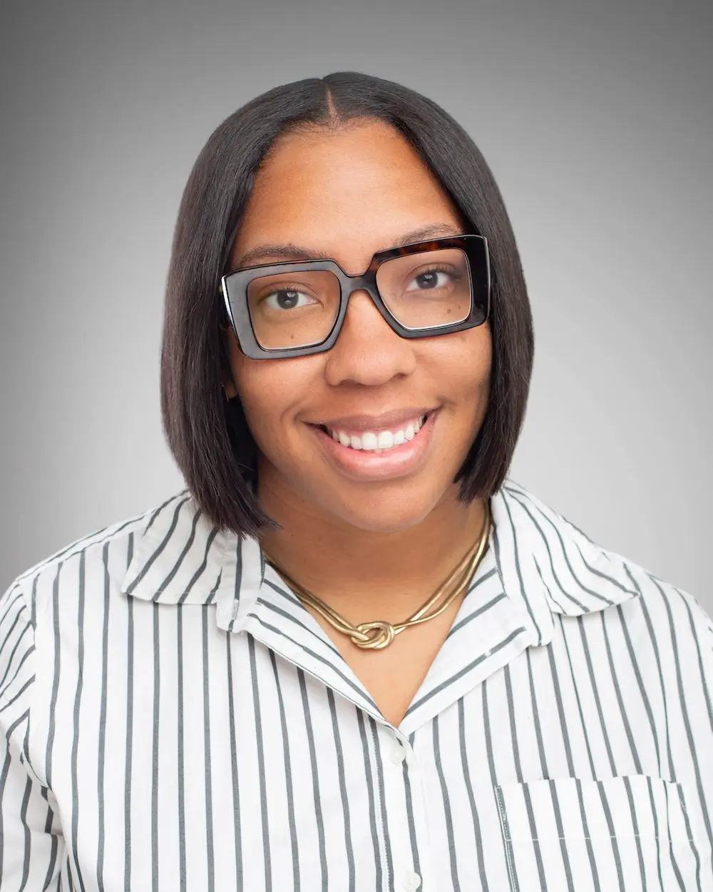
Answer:
[[183, 491], [0, 600], [2, 892], [713, 890], [713, 625], [512, 480], [403, 722]]

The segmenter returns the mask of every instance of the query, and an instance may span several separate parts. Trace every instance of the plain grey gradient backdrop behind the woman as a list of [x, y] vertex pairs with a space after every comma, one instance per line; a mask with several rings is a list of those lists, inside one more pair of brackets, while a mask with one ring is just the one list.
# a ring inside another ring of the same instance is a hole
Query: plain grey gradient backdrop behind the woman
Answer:
[[176, 211], [220, 120], [363, 70], [470, 132], [536, 327], [512, 477], [713, 610], [711, 5], [13, 4], [0, 20], [0, 583], [183, 486], [160, 428]]

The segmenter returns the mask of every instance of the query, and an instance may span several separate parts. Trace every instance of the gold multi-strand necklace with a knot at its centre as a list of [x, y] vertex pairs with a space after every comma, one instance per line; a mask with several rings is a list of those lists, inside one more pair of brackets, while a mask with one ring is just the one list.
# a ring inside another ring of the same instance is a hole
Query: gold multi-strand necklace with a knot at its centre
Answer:
[[[414, 614], [409, 616], [404, 623], [397, 623], [396, 625], [392, 625], [381, 619], [375, 620], [373, 623], [352, 625], [342, 615], [338, 614], [336, 610], [333, 610], [332, 607], [325, 604], [322, 599], [317, 598], [311, 591], [307, 591], [307, 589], [301, 586], [299, 582], [295, 582], [291, 576], [285, 573], [283, 568], [273, 560], [273, 558], [270, 558], [270, 556], [266, 554], [265, 550], [263, 550], [263, 554], [265, 555], [267, 563], [283, 577], [284, 582], [290, 586], [298, 596], [299, 600], [303, 604], [313, 607], [318, 614], [324, 616], [324, 619], [338, 632], [348, 635], [354, 644], [356, 644], [357, 648], [381, 650], [381, 648], [388, 647], [397, 634], [403, 632], [407, 626], [425, 623], [428, 620], [433, 619], [435, 616], [442, 614], [448, 605], [453, 603], [455, 598], [461, 594], [471, 581], [473, 574], [475, 574], [475, 571], [478, 569], [480, 560], [488, 547], [489, 533], [490, 508], [488, 501], [486, 501], [485, 519], [478, 541], [475, 542], [465, 557], [457, 566], [455, 566], [452, 573], [448, 575], [447, 580], [438, 586], [438, 589], [430, 596], [430, 599], [428, 599]], [[433, 613], [428, 613], [430, 607], [436, 604], [438, 599], [444, 592], [448, 591], [451, 586], [453, 586], [453, 588], [447, 595], [443, 604], [441, 604], [438, 609], [434, 610]]]

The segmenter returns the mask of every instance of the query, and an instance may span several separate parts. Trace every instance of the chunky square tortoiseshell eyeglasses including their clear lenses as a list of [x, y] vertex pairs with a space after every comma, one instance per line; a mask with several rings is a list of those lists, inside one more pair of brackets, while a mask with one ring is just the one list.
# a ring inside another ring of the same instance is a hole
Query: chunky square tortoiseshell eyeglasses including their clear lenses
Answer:
[[351, 294], [365, 291], [401, 337], [447, 335], [480, 326], [490, 310], [488, 241], [455, 235], [373, 255], [361, 276], [336, 260], [235, 269], [222, 277], [225, 310], [250, 359], [330, 350]]

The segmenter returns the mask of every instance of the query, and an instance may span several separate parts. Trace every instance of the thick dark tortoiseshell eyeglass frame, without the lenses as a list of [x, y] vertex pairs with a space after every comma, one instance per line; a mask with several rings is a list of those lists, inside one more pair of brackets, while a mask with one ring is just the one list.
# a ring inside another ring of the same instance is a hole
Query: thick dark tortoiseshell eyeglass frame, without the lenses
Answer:
[[[406, 257], [427, 251], [441, 251], [444, 248], [459, 248], [468, 260], [471, 276], [471, 311], [467, 318], [447, 326], [431, 328], [406, 328], [389, 312], [381, 298], [376, 285], [376, 270], [387, 260]], [[280, 272], [299, 272], [300, 270], [329, 270], [340, 283], [340, 307], [329, 335], [320, 343], [302, 347], [269, 349], [260, 346], [253, 331], [248, 306], [248, 286], [259, 276], [270, 276]], [[430, 239], [426, 242], [414, 242], [386, 251], [376, 252], [361, 276], [350, 276], [345, 273], [339, 263], [332, 258], [324, 260], [287, 260], [279, 263], [260, 264], [259, 266], [234, 269], [221, 278], [221, 289], [228, 322], [233, 327], [242, 352], [250, 359], [291, 359], [297, 356], [309, 356], [322, 353], [332, 348], [339, 337], [342, 323], [347, 315], [348, 301], [355, 291], [365, 291], [373, 300], [381, 316], [389, 326], [401, 337], [420, 338], [436, 335], [450, 335], [464, 331], [466, 328], [481, 326], [490, 315], [490, 262], [488, 240], [484, 235], [449, 235], [447, 238]]]

